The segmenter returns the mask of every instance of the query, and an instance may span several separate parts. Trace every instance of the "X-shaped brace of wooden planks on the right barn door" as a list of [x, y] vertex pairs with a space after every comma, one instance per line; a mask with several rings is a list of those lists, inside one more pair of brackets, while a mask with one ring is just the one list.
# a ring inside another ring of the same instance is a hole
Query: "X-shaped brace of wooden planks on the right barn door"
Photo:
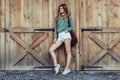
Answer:
[[[120, 61], [120, 57], [119, 55], [117, 55], [115, 52], [111, 52], [110, 50], [108, 49], [112, 49], [119, 41], [120, 41], [120, 37], [117, 37], [117, 39], [115, 39], [114, 41], [112, 41], [112, 43], [109, 44], [109, 46], [105, 45], [102, 41], [100, 41], [94, 34], [90, 33], [90, 32], [87, 32], [88, 36], [93, 40], [95, 41], [101, 48], [103, 49], [107, 49], [107, 52], [113, 57], [115, 58], [117, 61]], [[106, 52], [106, 53], [107, 53]], [[105, 53], [105, 54], [106, 54]], [[102, 55], [102, 53], [99, 53], [99, 55]], [[89, 62], [89, 65], [91, 64], [95, 64], [99, 59], [101, 59], [101, 57], [97, 55], [96, 57], [98, 57], [98, 59], [95, 57], [93, 58], [90, 62]]]

